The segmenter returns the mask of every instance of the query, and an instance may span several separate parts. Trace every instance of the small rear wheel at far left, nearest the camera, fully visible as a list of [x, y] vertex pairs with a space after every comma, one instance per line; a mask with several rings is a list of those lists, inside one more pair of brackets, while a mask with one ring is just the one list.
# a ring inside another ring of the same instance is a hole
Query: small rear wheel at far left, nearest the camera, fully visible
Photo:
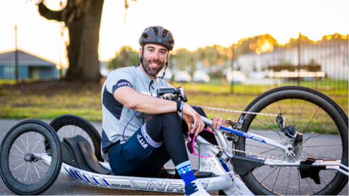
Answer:
[[[45, 143], [52, 150], [47, 152]], [[51, 187], [61, 171], [62, 155], [59, 152], [61, 143], [51, 126], [38, 120], [20, 122], [1, 142], [1, 178], [18, 195], [38, 195]], [[51, 163], [45, 164], [41, 159], [25, 161], [25, 157], [40, 153], [49, 153]]]

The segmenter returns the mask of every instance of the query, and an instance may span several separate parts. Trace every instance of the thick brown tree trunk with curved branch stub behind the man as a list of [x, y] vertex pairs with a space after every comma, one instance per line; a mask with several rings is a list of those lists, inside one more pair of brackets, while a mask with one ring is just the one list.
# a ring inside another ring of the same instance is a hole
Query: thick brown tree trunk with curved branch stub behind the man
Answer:
[[66, 80], [99, 82], [100, 62], [98, 42], [102, 0], [68, 0], [61, 11], [51, 11], [42, 2], [38, 4], [40, 15], [48, 20], [64, 22], [69, 29], [69, 68]]

